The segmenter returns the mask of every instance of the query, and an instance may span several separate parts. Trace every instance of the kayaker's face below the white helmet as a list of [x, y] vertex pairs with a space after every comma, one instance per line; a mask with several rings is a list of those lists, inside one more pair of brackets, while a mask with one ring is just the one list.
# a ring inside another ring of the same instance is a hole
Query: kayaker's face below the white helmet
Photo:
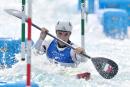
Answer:
[[56, 35], [61, 40], [67, 42], [69, 40], [69, 38], [70, 38], [71, 32], [57, 30]]

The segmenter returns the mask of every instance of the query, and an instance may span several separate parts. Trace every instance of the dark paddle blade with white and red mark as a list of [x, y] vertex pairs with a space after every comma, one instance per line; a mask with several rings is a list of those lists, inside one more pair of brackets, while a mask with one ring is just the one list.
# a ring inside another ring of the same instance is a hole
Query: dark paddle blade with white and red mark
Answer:
[[113, 78], [118, 72], [118, 65], [107, 58], [97, 57], [91, 59], [96, 70], [105, 79]]

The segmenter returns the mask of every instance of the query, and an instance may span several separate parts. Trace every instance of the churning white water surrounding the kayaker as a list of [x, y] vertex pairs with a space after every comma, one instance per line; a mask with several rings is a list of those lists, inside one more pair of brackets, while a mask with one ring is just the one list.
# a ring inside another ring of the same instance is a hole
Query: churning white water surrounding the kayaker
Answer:
[[[21, 21], [3, 10], [13, 8], [21, 10], [21, 0], [0, 0], [0, 37], [20, 38]], [[128, 87], [130, 83], [130, 39], [113, 40], [104, 36], [97, 14], [88, 15], [85, 31], [85, 50], [92, 57], [103, 56], [119, 65], [118, 74], [110, 80], [103, 79], [90, 60], [75, 69], [49, 64], [46, 56], [32, 53], [32, 80], [40, 87]], [[70, 20], [73, 24], [71, 40], [80, 46], [80, 12], [77, 0], [33, 0], [32, 20], [38, 26], [46, 27], [55, 35], [58, 20]], [[39, 30], [32, 29], [32, 39], [36, 41]], [[47, 37], [48, 39], [49, 37]], [[20, 60], [20, 54], [16, 55]], [[75, 72], [74, 72], [75, 71]], [[89, 81], [78, 80], [69, 75], [83, 71], [91, 72]], [[26, 79], [26, 62], [20, 61], [11, 69], [0, 70], [0, 81], [18, 81]]]

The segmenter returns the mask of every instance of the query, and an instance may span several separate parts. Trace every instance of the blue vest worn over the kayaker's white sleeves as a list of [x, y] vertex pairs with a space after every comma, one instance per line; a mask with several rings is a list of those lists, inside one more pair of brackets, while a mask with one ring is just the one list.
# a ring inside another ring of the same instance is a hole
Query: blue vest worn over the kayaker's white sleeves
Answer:
[[66, 47], [64, 50], [60, 51], [57, 48], [57, 41], [54, 39], [48, 49], [47, 49], [47, 56], [50, 59], [54, 59], [57, 62], [62, 62], [62, 63], [74, 63], [72, 60], [72, 57], [70, 55], [71, 48]]

